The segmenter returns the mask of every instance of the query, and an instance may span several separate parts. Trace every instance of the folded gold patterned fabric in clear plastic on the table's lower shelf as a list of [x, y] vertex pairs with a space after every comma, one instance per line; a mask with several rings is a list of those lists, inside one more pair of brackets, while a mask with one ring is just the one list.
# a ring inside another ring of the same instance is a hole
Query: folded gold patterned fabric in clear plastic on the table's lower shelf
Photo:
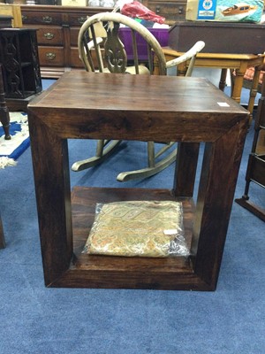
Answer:
[[182, 204], [174, 201], [97, 204], [84, 252], [124, 257], [168, 257], [180, 252], [186, 256], [182, 219]]

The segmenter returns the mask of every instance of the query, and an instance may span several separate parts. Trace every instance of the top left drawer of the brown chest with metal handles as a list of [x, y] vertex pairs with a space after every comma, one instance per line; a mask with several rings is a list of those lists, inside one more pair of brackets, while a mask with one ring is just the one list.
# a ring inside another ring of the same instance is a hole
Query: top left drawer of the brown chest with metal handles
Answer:
[[62, 24], [61, 13], [22, 11], [23, 25], [57, 25]]

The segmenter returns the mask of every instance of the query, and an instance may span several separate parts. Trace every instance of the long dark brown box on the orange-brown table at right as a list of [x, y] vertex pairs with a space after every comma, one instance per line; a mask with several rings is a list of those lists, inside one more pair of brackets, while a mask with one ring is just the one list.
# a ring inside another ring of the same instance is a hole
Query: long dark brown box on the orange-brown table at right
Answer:
[[265, 51], [265, 24], [179, 21], [169, 31], [169, 46], [185, 52], [204, 41], [204, 53], [261, 54]]

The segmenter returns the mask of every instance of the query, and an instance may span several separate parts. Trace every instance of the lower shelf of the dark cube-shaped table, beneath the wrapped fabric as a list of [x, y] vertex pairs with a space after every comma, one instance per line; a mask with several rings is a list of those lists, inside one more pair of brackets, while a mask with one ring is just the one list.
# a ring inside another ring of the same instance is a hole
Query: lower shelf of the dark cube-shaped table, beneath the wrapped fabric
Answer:
[[[119, 200], [176, 200], [169, 189], [72, 190], [72, 265], [51, 287], [109, 289], [199, 289], [208, 288], [193, 272], [192, 257], [123, 258], [82, 253], [95, 217], [95, 204]], [[179, 199], [178, 199], [179, 200]], [[181, 198], [186, 242], [192, 242], [194, 204]]]

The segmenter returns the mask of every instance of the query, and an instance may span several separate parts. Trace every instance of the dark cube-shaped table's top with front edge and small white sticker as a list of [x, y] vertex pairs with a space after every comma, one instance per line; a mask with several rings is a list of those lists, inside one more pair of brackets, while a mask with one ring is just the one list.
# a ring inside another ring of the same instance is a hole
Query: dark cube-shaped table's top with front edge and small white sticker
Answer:
[[28, 104], [28, 112], [65, 138], [163, 135], [170, 141], [216, 140], [248, 114], [204, 78], [81, 70], [65, 73]]

